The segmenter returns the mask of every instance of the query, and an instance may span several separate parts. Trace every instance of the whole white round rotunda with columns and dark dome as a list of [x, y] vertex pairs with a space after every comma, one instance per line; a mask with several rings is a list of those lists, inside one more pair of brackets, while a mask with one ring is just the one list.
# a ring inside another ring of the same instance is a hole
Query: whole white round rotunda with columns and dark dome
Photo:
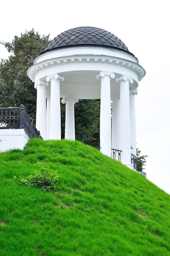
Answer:
[[119, 38], [96, 27], [69, 29], [51, 40], [27, 74], [37, 90], [36, 128], [43, 139], [61, 139], [60, 98], [70, 140], [75, 139], [74, 104], [101, 99], [101, 153], [111, 157], [114, 150], [117, 159], [121, 152], [121, 162], [133, 168], [135, 95], [145, 70]]

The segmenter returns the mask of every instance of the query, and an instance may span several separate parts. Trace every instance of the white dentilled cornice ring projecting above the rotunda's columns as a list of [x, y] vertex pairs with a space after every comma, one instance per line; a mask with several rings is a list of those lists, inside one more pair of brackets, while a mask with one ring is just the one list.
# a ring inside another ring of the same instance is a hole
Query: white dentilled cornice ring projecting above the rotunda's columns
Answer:
[[34, 82], [36, 73], [47, 67], [51, 67], [55, 65], [65, 65], [67, 63], [82, 63], [82, 62], [83, 63], [109, 63], [109, 64], [127, 67], [128, 69], [134, 71], [137, 74], [139, 81], [141, 81], [141, 79], [145, 76], [145, 70], [139, 64], [123, 58], [110, 57], [110, 56], [104, 56], [104, 55], [103, 56], [72, 55], [72, 56], [51, 58], [29, 67], [27, 71], [27, 75], [29, 76], [31, 81]]

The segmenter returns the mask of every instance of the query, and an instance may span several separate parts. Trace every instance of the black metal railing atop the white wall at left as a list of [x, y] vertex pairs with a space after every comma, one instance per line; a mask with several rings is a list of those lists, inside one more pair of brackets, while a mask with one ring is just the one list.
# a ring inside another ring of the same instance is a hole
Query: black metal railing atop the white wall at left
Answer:
[[18, 108], [0, 108], [0, 129], [25, 129], [29, 138], [40, 138], [40, 131], [37, 130], [32, 117], [25, 111], [25, 106]]

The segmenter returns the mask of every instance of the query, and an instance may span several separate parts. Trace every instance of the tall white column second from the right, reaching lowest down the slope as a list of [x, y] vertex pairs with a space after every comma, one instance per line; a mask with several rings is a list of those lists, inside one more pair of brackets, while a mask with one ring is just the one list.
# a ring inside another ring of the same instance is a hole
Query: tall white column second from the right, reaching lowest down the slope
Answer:
[[131, 164], [131, 132], [130, 132], [130, 97], [129, 82], [133, 79], [123, 76], [116, 79], [120, 81], [120, 119], [119, 119], [119, 148], [121, 152], [121, 162], [132, 168]]

